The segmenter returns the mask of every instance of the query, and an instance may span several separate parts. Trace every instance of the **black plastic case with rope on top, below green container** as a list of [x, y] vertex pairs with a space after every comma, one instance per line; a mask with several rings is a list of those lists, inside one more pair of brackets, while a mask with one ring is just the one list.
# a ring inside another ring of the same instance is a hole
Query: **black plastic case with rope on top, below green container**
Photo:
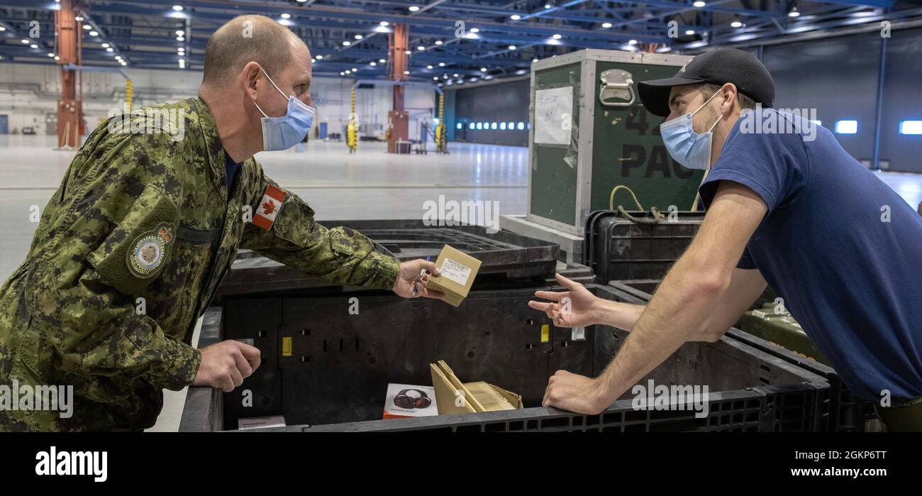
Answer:
[[664, 213], [597, 210], [586, 218], [583, 263], [599, 281], [662, 279], [691, 244], [704, 212]]

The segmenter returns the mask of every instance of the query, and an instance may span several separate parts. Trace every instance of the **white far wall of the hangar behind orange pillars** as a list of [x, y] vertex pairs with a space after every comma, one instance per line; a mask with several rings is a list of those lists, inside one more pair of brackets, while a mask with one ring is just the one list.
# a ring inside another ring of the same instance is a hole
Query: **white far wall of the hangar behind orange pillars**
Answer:
[[[134, 105], [183, 100], [195, 96], [202, 73], [125, 69], [134, 84]], [[83, 72], [83, 108], [87, 124], [93, 128], [113, 108], [124, 105], [124, 77], [114, 72]], [[350, 89], [353, 79], [316, 77], [311, 94], [317, 106], [315, 123], [325, 122], [328, 133], [343, 133], [349, 121]], [[387, 112], [391, 109], [392, 87], [376, 86], [356, 91], [356, 112], [361, 134], [384, 136]], [[45, 134], [45, 121], [54, 115], [61, 95], [61, 71], [56, 66], [0, 64], [0, 114], [9, 116], [9, 131], [24, 125]], [[409, 137], [419, 139], [420, 122], [431, 121], [435, 107], [434, 90], [408, 88], [405, 107], [410, 114]]]

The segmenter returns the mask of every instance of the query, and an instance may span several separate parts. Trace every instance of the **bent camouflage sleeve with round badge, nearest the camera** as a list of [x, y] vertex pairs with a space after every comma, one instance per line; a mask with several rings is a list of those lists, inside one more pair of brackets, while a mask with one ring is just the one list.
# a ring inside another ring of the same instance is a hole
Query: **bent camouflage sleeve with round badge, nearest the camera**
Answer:
[[[27, 286], [31, 318], [69, 372], [179, 390], [201, 355], [138, 303], [175, 244], [179, 194], [166, 192], [180, 189], [169, 166], [179, 144], [163, 134], [99, 134], [45, 207]], [[160, 263], [132, 268], [129, 251], [143, 240]]]

